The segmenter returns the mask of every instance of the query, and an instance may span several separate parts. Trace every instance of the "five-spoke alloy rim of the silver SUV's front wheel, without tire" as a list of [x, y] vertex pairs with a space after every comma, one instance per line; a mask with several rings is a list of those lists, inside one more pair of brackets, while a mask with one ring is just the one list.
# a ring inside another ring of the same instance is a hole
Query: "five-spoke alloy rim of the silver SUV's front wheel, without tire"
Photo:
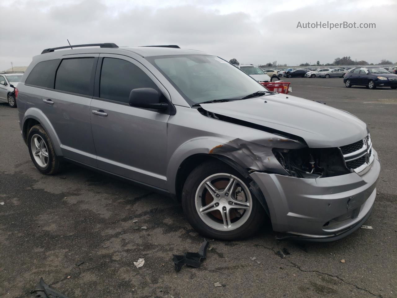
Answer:
[[252, 211], [252, 197], [247, 185], [231, 174], [220, 173], [205, 178], [195, 195], [196, 211], [202, 221], [221, 231], [242, 226]]

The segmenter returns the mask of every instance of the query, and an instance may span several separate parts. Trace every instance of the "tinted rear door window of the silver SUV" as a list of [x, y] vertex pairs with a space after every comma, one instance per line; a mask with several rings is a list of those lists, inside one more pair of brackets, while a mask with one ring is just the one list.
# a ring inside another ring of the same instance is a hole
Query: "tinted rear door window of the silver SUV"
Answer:
[[56, 72], [55, 89], [93, 95], [91, 74], [94, 57], [64, 59]]

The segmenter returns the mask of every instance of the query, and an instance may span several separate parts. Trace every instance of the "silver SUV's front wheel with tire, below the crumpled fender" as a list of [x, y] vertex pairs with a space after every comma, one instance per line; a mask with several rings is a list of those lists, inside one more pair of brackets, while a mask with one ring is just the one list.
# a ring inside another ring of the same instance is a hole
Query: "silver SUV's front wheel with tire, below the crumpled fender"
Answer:
[[249, 180], [218, 161], [200, 164], [187, 177], [182, 207], [191, 226], [200, 234], [236, 240], [254, 234], [265, 214], [249, 190]]

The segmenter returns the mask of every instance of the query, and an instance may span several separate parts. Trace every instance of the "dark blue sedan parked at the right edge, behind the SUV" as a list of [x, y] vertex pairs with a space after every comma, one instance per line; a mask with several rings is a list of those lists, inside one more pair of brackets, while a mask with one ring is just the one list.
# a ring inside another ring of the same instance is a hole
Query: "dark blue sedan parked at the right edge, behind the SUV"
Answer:
[[396, 89], [397, 75], [391, 74], [383, 67], [357, 67], [345, 74], [343, 83], [346, 87], [361, 85], [369, 89], [375, 89], [376, 87]]

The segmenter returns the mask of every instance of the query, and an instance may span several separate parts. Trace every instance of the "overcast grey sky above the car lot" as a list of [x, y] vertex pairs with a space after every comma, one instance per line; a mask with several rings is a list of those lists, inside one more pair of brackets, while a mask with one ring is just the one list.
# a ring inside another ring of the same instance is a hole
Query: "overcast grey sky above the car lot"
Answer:
[[[240, 63], [397, 62], [395, 0], [0, 0], [0, 70], [44, 48], [83, 43], [175, 44]], [[376, 29], [297, 29], [376, 23]], [[5, 28], [4, 28], [5, 27]]]

